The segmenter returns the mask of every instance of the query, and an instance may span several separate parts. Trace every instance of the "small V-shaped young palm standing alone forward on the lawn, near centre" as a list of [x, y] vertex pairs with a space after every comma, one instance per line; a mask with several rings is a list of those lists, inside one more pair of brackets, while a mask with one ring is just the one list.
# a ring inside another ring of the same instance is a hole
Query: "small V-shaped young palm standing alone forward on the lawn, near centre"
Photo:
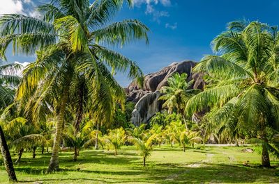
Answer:
[[143, 166], [145, 167], [146, 158], [151, 155], [152, 146], [156, 140], [156, 135], [150, 133], [144, 133], [142, 138], [129, 136], [129, 142], [132, 142], [137, 150], [140, 152], [140, 156], [143, 158]]

